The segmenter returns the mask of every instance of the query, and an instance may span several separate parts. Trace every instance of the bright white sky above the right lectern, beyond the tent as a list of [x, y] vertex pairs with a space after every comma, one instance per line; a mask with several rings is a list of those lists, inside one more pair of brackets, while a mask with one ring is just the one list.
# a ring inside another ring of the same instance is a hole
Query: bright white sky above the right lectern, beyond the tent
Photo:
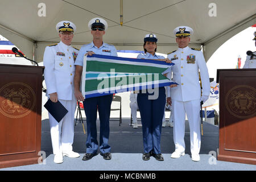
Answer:
[[217, 69], [234, 69], [238, 56], [241, 56], [241, 68], [245, 64], [246, 52], [256, 51], [254, 31], [256, 27], [248, 27], [230, 38], [217, 49], [207, 61], [210, 78], [216, 80]]

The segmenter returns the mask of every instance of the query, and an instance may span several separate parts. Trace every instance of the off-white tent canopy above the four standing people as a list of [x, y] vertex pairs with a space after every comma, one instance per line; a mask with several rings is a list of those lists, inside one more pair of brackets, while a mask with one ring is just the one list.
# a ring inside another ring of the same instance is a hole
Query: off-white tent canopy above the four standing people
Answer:
[[[143, 50], [144, 35], [153, 32], [160, 53], [176, 49], [175, 27], [189, 26], [195, 32], [191, 47], [203, 46], [209, 60], [226, 40], [256, 23], [255, 7], [255, 0], [1, 0], [0, 34], [41, 62], [45, 47], [60, 41], [55, 26], [61, 20], [76, 24], [72, 44], [77, 48], [92, 42], [88, 22], [101, 17], [109, 26], [104, 42], [117, 49]], [[42, 12], [45, 16], [39, 16]], [[212, 12], [216, 16], [210, 16]]]

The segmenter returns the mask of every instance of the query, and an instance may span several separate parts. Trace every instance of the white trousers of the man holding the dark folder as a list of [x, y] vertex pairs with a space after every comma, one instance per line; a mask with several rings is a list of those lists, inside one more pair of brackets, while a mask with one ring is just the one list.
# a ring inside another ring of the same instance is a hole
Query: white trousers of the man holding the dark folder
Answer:
[[51, 139], [53, 154], [62, 154], [63, 151], [72, 150], [74, 139], [74, 115], [76, 110], [76, 99], [71, 101], [59, 100], [68, 110], [68, 113], [58, 123], [49, 113], [49, 123], [51, 127]]

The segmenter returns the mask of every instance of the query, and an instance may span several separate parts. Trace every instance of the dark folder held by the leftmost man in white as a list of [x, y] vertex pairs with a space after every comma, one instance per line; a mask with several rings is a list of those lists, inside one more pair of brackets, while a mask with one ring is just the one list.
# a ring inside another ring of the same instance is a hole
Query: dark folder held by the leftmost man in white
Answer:
[[52, 102], [51, 100], [48, 100], [44, 107], [46, 107], [48, 112], [56, 119], [57, 122], [60, 122], [68, 113], [68, 110], [60, 103], [60, 101]]

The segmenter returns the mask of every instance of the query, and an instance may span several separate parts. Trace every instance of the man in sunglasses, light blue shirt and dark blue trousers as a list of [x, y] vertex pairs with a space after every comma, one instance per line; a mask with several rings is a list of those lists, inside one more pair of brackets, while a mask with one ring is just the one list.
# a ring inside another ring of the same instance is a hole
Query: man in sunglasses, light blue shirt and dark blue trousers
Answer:
[[74, 77], [75, 96], [77, 100], [83, 101], [86, 123], [87, 123], [87, 140], [86, 140], [86, 154], [82, 160], [92, 159], [97, 155], [98, 141], [97, 141], [97, 109], [100, 116], [100, 152], [104, 159], [109, 160], [112, 158], [110, 153], [109, 140], [109, 117], [110, 106], [113, 99], [113, 94], [107, 96], [85, 98], [80, 92], [80, 81], [82, 75], [82, 66], [84, 56], [98, 54], [117, 56], [117, 49], [114, 46], [103, 42], [103, 35], [108, 28], [108, 23], [102, 18], [93, 18], [88, 23], [88, 27], [92, 30], [93, 41], [81, 47], [76, 59], [76, 72]]

